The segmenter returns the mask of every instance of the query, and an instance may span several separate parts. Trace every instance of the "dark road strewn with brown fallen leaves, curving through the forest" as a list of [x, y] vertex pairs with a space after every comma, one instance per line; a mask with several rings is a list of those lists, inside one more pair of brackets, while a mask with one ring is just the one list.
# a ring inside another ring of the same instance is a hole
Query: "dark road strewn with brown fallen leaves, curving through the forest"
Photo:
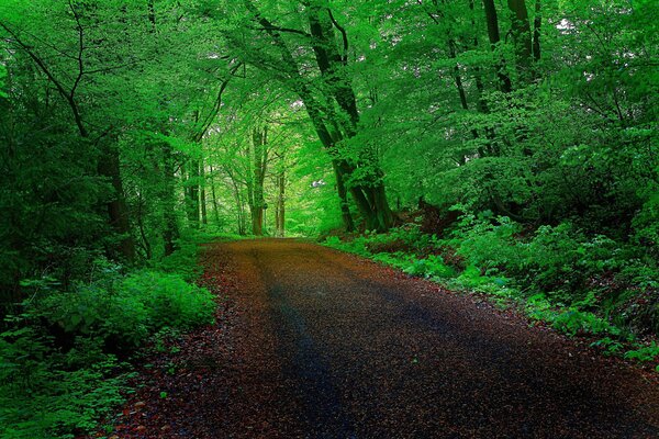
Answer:
[[217, 323], [111, 438], [656, 438], [656, 378], [478, 297], [289, 239], [205, 246]]

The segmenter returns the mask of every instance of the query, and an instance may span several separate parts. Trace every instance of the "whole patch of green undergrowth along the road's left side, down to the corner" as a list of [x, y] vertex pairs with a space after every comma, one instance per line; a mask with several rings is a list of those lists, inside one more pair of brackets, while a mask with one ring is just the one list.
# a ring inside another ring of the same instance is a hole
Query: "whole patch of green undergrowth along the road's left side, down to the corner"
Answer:
[[[225, 237], [226, 238], [226, 237]], [[0, 437], [74, 438], [98, 429], [131, 393], [131, 361], [168, 331], [213, 323], [194, 285], [197, 236], [150, 268], [98, 259], [85, 280], [23, 281], [29, 299], [0, 333]]]

